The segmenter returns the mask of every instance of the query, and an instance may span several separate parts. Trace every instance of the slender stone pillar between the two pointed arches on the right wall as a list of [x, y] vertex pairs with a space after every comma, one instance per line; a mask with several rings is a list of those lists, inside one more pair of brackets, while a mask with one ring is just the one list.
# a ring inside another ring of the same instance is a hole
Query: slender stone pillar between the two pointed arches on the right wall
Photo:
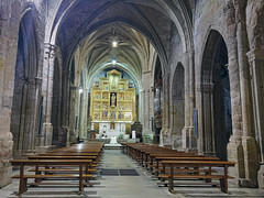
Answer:
[[194, 108], [195, 108], [195, 52], [185, 53], [185, 128], [183, 129], [183, 148], [197, 150], [195, 138]]

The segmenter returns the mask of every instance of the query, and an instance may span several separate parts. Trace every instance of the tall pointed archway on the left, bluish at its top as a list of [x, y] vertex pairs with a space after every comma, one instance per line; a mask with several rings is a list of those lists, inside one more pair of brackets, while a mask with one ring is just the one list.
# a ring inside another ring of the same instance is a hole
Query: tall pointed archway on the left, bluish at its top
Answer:
[[33, 153], [37, 134], [37, 107], [41, 80], [37, 78], [37, 37], [33, 10], [20, 22], [11, 117], [13, 157]]

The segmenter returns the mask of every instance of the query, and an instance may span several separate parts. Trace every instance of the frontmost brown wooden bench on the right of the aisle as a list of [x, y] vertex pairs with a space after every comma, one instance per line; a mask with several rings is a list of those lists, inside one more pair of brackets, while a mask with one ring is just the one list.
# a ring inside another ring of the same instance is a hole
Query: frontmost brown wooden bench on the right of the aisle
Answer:
[[[207, 182], [211, 179], [219, 179], [220, 180], [220, 189], [224, 193], [228, 191], [228, 178], [232, 178], [228, 175], [228, 167], [234, 166], [234, 162], [221, 162], [221, 161], [162, 161], [163, 169], [166, 169], [166, 167], [169, 167], [168, 174], [162, 174], [163, 178], [168, 178], [168, 190], [170, 193], [174, 193], [174, 179], [180, 178], [180, 179], [189, 179], [189, 178], [197, 178], [197, 179], [207, 179]], [[188, 174], [185, 172], [185, 169], [182, 169], [182, 173], [177, 173], [174, 170], [174, 168], [177, 167], [184, 167], [184, 168], [190, 168], [190, 167], [204, 167], [207, 168], [208, 172], [206, 174], [202, 174], [198, 172], [198, 174]], [[223, 174], [212, 174], [212, 167], [223, 167]]]

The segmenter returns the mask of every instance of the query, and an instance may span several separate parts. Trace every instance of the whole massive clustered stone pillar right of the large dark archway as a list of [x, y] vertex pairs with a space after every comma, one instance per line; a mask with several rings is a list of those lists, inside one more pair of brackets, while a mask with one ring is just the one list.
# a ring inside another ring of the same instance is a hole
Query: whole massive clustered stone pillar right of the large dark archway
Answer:
[[[234, 7], [235, 4], [235, 7]], [[249, 65], [245, 57], [248, 36], [245, 32], [245, 1], [228, 1], [226, 7], [229, 74], [231, 86], [233, 134], [228, 144], [229, 161], [237, 162], [230, 168], [237, 183], [244, 187], [256, 185], [256, 144], [253, 135]]]

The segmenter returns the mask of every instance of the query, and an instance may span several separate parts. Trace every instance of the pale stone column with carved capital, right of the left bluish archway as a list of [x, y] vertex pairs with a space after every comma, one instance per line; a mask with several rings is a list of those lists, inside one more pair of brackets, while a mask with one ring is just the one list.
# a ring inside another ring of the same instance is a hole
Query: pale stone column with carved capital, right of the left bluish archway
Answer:
[[53, 125], [52, 118], [52, 100], [53, 100], [53, 75], [54, 75], [54, 58], [55, 46], [46, 43], [44, 46], [44, 63], [43, 63], [43, 123], [41, 132], [41, 145], [38, 152], [46, 152], [52, 148]]

